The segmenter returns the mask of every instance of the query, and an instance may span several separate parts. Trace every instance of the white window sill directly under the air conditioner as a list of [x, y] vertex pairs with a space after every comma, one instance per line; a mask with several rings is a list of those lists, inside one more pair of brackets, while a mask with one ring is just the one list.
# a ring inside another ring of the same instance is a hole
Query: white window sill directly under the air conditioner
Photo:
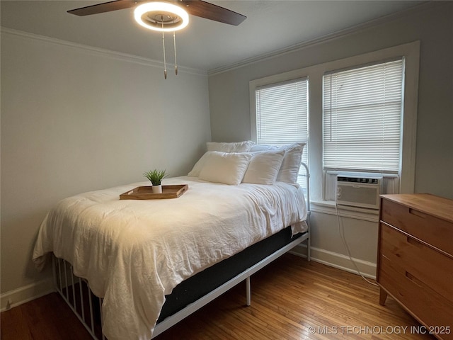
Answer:
[[338, 205], [333, 200], [311, 200], [311, 211], [319, 212], [321, 214], [338, 215], [340, 217], [348, 217], [356, 220], [365, 220], [369, 222], [379, 222], [379, 210], [348, 207], [346, 205]]

